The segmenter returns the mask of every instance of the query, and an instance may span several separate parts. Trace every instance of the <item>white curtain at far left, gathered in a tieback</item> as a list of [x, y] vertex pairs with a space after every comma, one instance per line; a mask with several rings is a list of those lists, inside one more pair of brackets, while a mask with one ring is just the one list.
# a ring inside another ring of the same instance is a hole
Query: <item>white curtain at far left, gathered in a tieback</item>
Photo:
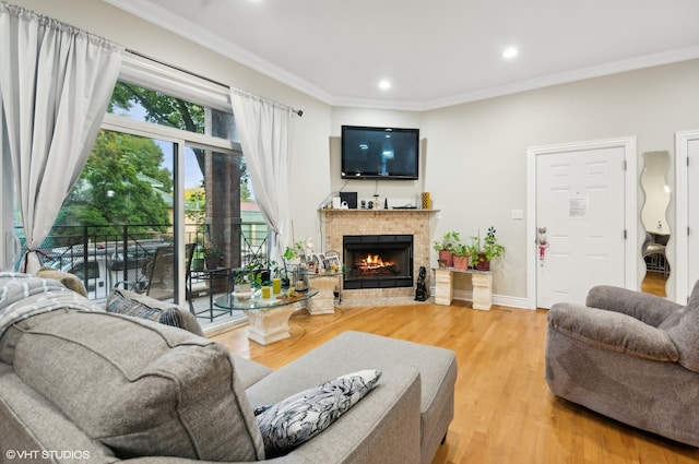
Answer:
[[36, 249], [78, 180], [109, 104], [122, 47], [0, 2], [0, 100], [29, 250]]

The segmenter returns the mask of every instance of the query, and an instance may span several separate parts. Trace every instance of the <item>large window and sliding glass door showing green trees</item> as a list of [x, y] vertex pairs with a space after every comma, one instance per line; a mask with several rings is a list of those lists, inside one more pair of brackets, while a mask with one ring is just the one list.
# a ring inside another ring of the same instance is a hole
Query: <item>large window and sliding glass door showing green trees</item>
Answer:
[[[173, 286], [182, 301], [187, 243], [194, 245], [192, 258], [215, 245], [226, 266], [240, 267], [266, 254], [266, 225], [236, 142], [227, 90], [142, 61], [125, 59], [127, 79], [115, 86], [103, 130], [42, 249], [48, 264], [80, 271], [95, 289], [91, 297], [104, 299], [119, 282], [147, 286], [155, 249], [174, 246], [181, 272]], [[167, 88], [149, 88], [152, 82]], [[85, 260], [96, 266], [87, 274], [78, 265]], [[194, 293], [212, 290], [203, 281], [187, 284]]]

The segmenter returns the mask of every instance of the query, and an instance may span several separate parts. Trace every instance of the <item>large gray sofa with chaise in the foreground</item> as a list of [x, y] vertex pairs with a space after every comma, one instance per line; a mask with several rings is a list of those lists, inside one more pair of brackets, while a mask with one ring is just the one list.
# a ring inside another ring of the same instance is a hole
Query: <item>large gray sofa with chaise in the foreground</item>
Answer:
[[320, 435], [266, 461], [431, 462], [453, 417], [450, 350], [345, 332], [273, 371], [152, 320], [33, 313], [0, 337], [0, 461], [264, 461], [254, 406], [362, 369], [381, 371], [372, 391]]

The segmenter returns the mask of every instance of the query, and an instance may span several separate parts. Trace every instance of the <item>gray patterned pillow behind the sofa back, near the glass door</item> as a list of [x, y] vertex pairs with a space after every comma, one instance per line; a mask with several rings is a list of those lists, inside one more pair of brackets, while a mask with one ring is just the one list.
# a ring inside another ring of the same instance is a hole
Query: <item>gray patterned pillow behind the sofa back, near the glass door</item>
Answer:
[[107, 297], [107, 312], [150, 319], [204, 336], [197, 318], [173, 302], [164, 302], [134, 292], [115, 288]]

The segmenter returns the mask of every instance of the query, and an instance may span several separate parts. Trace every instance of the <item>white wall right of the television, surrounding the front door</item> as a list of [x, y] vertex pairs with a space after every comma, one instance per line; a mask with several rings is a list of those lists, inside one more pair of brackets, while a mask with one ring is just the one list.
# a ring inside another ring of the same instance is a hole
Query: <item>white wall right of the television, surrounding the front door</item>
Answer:
[[[420, 127], [429, 140], [426, 190], [433, 193], [441, 221], [435, 235], [457, 229], [472, 234], [490, 225], [498, 230], [506, 255], [499, 263], [494, 293], [526, 295], [526, 148], [566, 142], [635, 135], [640, 153], [667, 151], [674, 166], [674, 134], [697, 128], [699, 60], [557, 85], [538, 91], [438, 109], [424, 114]], [[431, 175], [439, 171], [439, 175]], [[674, 191], [674, 179], [670, 179]], [[636, 230], [642, 243], [639, 221]], [[668, 207], [673, 221], [674, 197]], [[671, 229], [674, 225], [671, 223]], [[671, 264], [674, 242], [670, 243]], [[644, 273], [638, 259], [639, 288]], [[672, 278], [672, 277], [671, 277]], [[467, 287], [467, 283], [464, 283]], [[668, 284], [668, 289], [674, 284]], [[668, 295], [671, 298], [672, 295]]]

